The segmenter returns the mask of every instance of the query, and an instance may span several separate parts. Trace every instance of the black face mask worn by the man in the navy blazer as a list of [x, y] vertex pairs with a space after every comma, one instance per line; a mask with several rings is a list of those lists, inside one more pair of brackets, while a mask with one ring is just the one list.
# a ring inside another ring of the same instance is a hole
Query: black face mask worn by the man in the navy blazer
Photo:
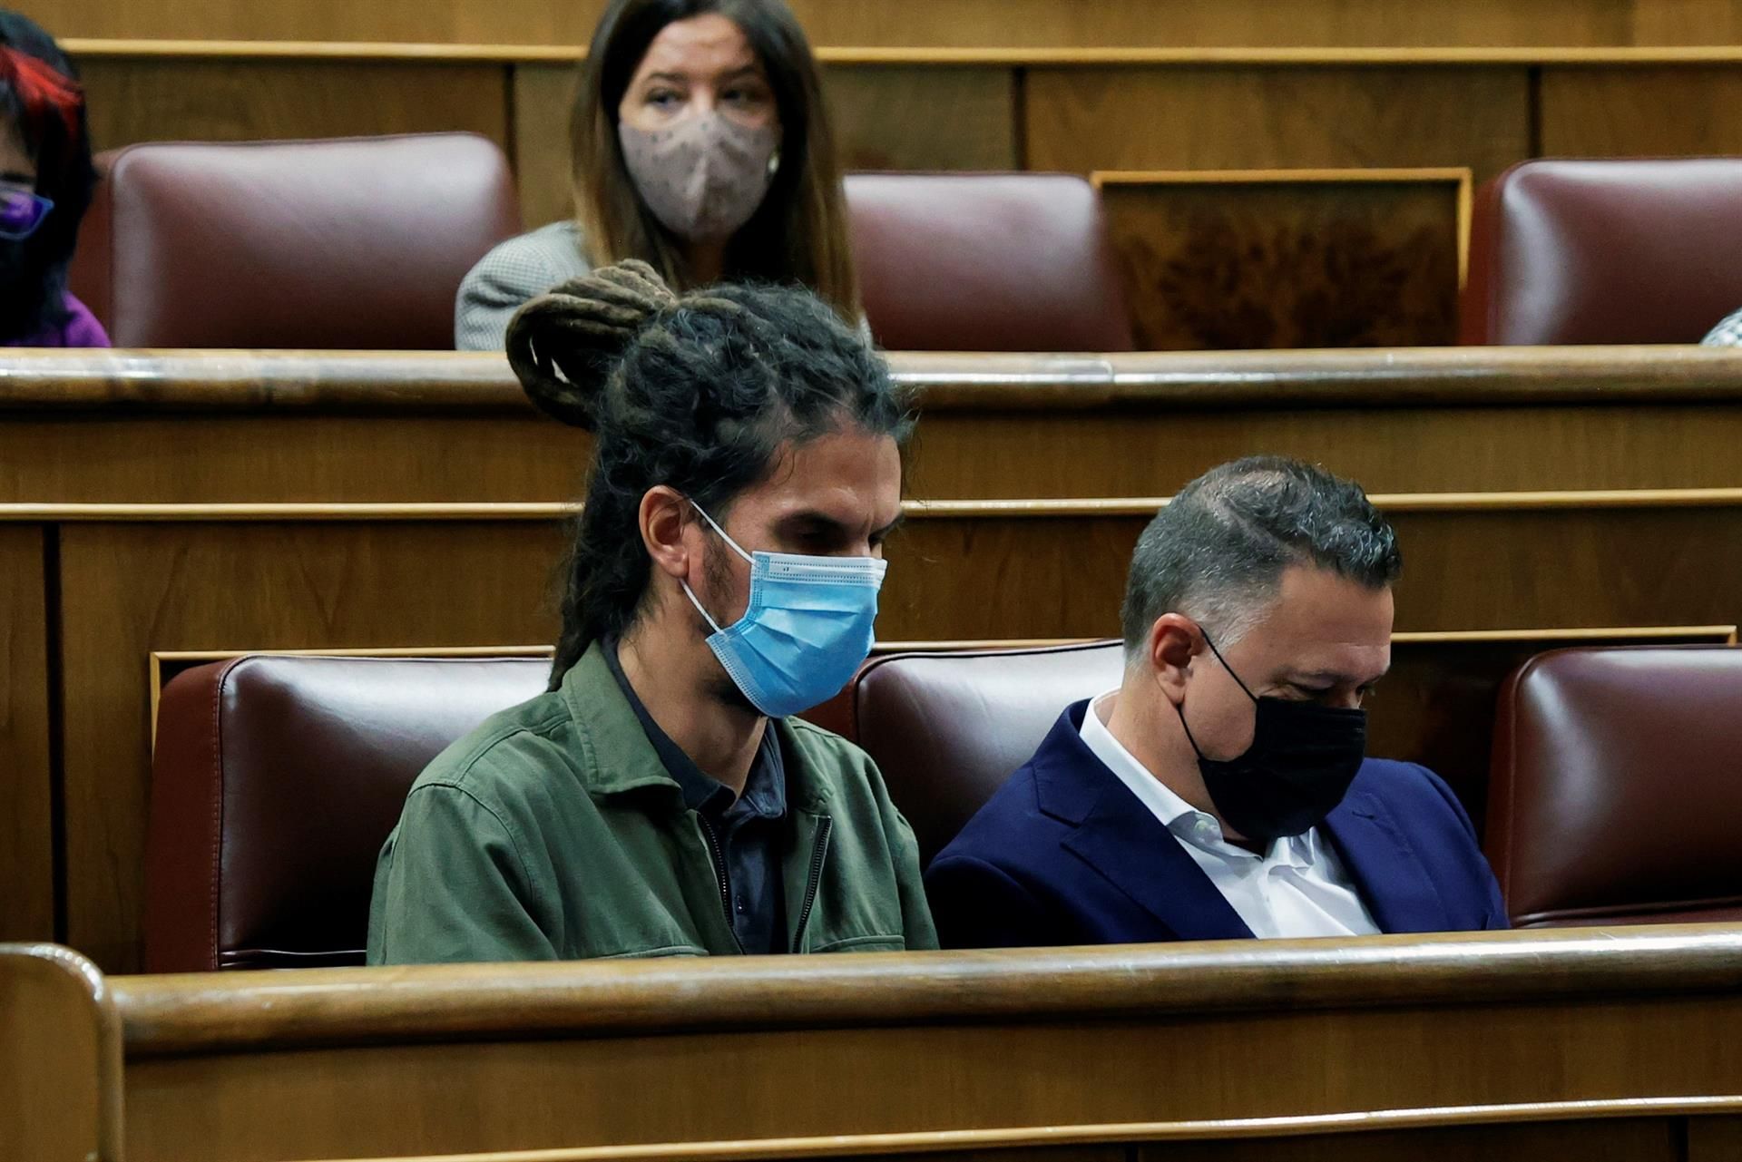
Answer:
[[1261, 843], [1317, 828], [1343, 801], [1361, 770], [1367, 753], [1367, 713], [1259, 699], [1246, 688], [1209, 634], [1204, 634], [1204, 645], [1258, 706], [1252, 746], [1239, 758], [1218, 760], [1198, 751], [1185, 709], [1174, 704], [1216, 812], [1230, 828]]

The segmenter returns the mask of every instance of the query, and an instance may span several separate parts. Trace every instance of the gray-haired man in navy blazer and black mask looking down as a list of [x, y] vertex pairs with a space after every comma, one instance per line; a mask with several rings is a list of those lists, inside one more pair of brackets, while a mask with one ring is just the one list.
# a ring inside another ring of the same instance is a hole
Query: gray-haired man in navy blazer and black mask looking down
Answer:
[[1138, 540], [1120, 688], [1064, 711], [932, 862], [944, 946], [1505, 927], [1446, 784], [1366, 758], [1401, 564], [1322, 469], [1186, 484]]

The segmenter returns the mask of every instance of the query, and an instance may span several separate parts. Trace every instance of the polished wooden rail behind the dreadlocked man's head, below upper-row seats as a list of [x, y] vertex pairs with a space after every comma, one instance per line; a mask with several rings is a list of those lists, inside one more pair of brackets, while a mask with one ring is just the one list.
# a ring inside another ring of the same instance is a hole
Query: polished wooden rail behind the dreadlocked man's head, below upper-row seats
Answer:
[[[890, 355], [927, 413], [1568, 406], [1742, 401], [1711, 347]], [[526, 415], [500, 354], [16, 350], [0, 411]]]

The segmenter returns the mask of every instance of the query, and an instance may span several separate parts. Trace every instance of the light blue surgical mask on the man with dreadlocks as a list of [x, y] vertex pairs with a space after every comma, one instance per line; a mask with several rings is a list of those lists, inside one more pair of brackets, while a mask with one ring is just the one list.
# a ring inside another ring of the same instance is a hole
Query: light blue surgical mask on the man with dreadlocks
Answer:
[[714, 629], [707, 648], [744, 697], [768, 718], [786, 718], [840, 693], [871, 653], [876, 594], [888, 563], [749, 554], [714, 517], [702, 512], [702, 519], [751, 563], [749, 605], [744, 617], [725, 629], [683, 582], [683, 592]]

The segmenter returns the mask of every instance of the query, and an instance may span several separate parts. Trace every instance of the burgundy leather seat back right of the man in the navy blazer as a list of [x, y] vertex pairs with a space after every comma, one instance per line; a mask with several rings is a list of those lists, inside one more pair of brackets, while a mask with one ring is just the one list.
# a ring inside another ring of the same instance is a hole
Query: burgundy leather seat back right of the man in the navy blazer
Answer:
[[1517, 925], [1742, 920], [1742, 650], [1543, 653], [1500, 692], [1488, 857]]

